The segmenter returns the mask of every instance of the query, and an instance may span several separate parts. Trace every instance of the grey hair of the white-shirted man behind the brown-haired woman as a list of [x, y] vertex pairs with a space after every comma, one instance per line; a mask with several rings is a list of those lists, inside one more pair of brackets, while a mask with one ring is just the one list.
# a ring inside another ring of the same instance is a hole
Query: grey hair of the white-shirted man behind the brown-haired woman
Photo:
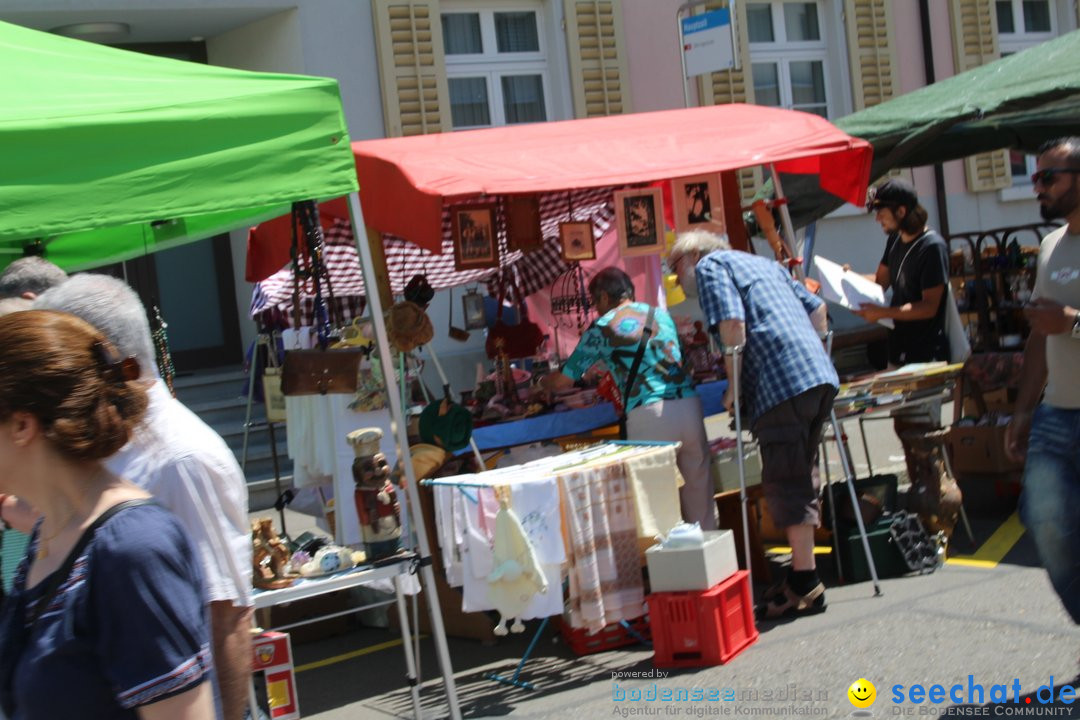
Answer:
[[46, 290], [35, 310], [59, 310], [83, 318], [109, 339], [120, 354], [138, 361], [140, 377], [154, 378], [158, 362], [146, 310], [129, 285], [109, 275], [83, 273]]

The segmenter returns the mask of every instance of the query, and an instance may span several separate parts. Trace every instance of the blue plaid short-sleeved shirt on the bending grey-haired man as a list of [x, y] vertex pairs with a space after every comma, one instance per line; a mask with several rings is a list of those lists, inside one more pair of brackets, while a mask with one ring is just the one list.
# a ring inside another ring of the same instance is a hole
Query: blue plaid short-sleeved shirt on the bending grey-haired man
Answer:
[[786, 399], [839, 379], [809, 314], [822, 300], [773, 260], [720, 250], [696, 268], [698, 296], [710, 328], [720, 321], [746, 325], [739, 376], [751, 421]]

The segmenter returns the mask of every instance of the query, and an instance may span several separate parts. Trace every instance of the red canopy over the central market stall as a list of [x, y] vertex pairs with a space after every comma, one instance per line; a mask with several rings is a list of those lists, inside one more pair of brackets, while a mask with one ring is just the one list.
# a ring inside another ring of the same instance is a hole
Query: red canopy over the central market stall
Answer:
[[[858, 205], [872, 155], [868, 142], [823, 118], [756, 105], [360, 140], [352, 150], [365, 225], [432, 254], [443, 253], [445, 208], [467, 199], [621, 187], [773, 164], [781, 173], [818, 175], [824, 190]], [[249, 245], [248, 280], [260, 280], [251, 272], [253, 256], [272, 272], [288, 260], [288, 243], [287, 220], [276, 232], [260, 227]]]

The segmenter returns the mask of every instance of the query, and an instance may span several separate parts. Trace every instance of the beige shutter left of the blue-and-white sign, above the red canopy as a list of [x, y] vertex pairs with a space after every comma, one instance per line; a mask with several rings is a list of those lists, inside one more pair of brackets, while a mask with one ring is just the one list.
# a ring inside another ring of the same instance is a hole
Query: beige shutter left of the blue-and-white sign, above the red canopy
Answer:
[[564, 8], [575, 117], [630, 112], [619, 0], [564, 0]]

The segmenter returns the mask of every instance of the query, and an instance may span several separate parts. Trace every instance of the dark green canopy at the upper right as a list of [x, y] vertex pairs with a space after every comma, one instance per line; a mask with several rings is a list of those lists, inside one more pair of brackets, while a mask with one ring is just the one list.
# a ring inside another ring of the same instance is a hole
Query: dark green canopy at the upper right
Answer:
[[[1035, 152], [1080, 133], [1080, 30], [840, 118], [874, 146], [870, 178], [980, 152]], [[843, 201], [812, 176], [782, 175], [792, 218], [805, 226]]]

